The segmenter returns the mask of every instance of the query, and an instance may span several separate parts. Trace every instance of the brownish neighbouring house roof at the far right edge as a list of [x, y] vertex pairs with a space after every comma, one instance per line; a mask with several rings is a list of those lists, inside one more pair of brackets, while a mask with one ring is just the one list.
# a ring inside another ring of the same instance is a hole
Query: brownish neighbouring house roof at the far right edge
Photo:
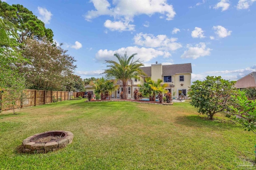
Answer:
[[250, 74], [238, 79], [235, 84], [236, 88], [248, 88], [256, 87], [256, 72], [251, 72]]

